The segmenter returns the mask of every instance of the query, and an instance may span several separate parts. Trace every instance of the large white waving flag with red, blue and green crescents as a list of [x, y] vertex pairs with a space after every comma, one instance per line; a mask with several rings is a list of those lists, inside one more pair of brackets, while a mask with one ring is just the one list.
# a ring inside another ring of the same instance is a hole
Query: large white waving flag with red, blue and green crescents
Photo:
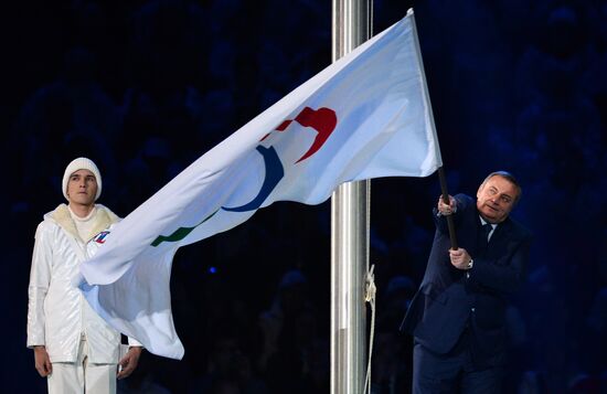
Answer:
[[175, 251], [275, 201], [319, 204], [342, 182], [441, 166], [413, 11], [204, 153], [116, 225], [82, 265], [93, 308], [151, 353], [183, 356]]

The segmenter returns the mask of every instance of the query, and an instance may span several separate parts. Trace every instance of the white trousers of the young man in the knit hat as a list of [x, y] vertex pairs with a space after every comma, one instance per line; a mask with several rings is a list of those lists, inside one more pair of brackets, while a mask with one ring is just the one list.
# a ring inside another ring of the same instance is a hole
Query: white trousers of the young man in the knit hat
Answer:
[[81, 339], [75, 363], [55, 362], [49, 375], [49, 394], [116, 394], [116, 364], [88, 362], [88, 344]]

